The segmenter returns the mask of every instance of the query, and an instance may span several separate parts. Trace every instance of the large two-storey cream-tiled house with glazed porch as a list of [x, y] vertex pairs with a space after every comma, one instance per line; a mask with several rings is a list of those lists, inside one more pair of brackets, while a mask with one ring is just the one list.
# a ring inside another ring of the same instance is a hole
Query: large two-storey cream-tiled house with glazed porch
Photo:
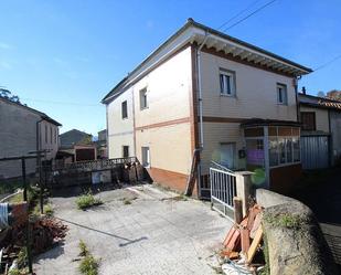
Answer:
[[104, 98], [109, 158], [210, 193], [211, 161], [273, 190], [300, 176], [297, 81], [311, 70], [192, 19]]

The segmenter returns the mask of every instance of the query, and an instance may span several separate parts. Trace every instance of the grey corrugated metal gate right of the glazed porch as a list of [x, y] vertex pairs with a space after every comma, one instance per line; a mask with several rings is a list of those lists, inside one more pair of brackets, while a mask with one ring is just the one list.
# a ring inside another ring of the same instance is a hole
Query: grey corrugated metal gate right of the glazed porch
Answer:
[[329, 136], [302, 136], [301, 162], [303, 169], [329, 167]]

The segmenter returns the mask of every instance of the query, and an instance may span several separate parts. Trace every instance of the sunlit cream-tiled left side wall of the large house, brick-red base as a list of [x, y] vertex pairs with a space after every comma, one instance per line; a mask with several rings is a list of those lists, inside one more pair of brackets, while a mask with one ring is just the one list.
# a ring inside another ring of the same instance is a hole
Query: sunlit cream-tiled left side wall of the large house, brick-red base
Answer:
[[[130, 154], [141, 161], [141, 147], [148, 146], [153, 181], [181, 191], [192, 159], [191, 64], [188, 46], [118, 95], [107, 108], [109, 157], [121, 157], [122, 145], [129, 145]], [[147, 88], [148, 108], [141, 109], [143, 88]], [[121, 119], [124, 101], [128, 103], [128, 119]]]

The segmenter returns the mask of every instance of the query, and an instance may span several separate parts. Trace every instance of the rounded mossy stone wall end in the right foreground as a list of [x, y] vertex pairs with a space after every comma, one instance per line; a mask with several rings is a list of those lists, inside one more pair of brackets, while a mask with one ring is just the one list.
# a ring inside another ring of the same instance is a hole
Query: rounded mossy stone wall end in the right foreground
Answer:
[[258, 189], [265, 208], [263, 228], [271, 275], [338, 274], [331, 252], [312, 211], [303, 203]]

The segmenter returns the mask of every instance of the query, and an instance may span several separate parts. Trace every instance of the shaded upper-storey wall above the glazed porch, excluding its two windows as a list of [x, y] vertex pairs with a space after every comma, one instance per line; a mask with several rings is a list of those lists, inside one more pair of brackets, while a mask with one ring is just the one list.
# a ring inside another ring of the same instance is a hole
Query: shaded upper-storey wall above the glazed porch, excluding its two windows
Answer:
[[[234, 71], [236, 96], [221, 96], [220, 68]], [[276, 84], [287, 85], [288, 105], [277, 104]], [[228, 118], [297, 120], [292, 78], [202, 53], [203, 115]]]

